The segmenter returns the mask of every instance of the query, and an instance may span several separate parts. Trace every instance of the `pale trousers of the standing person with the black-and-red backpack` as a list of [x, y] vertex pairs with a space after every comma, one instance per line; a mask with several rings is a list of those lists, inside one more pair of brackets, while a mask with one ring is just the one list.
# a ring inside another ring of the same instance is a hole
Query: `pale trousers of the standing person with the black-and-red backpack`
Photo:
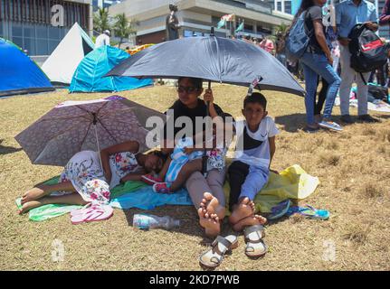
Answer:
[[[341, 115], [349, 115], [349, 94], [353, 82], [357, 83], [357, 114], [363, 116], [367, 114], [367, 94], [368, 86], [363, 82], [360, 73], [350, 67], [351, 53], [347, 46], [340, 47], [341, 62], [341, 85], [340, 85], [340, 110]], [[368, 81], [370, 72], [363, 73], [363, 77]]]

